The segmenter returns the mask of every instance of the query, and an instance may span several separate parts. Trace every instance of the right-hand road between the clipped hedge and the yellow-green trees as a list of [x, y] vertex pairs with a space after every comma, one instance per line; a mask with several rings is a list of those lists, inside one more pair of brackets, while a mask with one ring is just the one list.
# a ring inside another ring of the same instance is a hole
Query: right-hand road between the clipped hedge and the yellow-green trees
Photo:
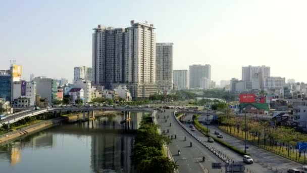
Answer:
[[[191, 118], [192, 115], [188, 116], [187, 118]], [[204, 118], [204, 117], [200, 117]], [[209, 125], [210, 133], [211, 135], [214, 135], [215, 131], [220, 131], [218, 127], [215, 125]], [[221, 132], [221, 131], [220, 131]], [[242, 150], [244, 150], [244, 141], [239, 140], [235, 137], [232, 137], [231, 135], [223, 133], [224, 138], [222, 140], [226, 141], [227, 143], [236, 146]], [[200, 134], [201, 136], [201, 134]], [[218, 147], [218, 145], [217, 145]], [[263, 172], [286, 172], [289, 168], [298, 168], [302, 165], [288, 160], [284, 157], [278, 156], [276, 154], [273, 154], [269, 151], [266, 151], [264, 149], [261, 149], [259, 147], [248, 145], [247, 152], [251, 154], [251, 157], [254, 159], [254, 163], [250, 165], [252, 170], [266, 170]], [[257, 165], [257, 166], [256, 166]], [[260, 167], [262, 169], [260, 169]]]

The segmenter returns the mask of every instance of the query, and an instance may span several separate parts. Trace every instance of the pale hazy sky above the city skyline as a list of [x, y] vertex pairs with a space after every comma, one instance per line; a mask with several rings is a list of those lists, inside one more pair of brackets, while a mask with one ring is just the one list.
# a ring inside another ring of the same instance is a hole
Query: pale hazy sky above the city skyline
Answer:
[[241, 67], [307, 81], [307, 1], [1, 1], [0, 69], [9, 60], [29, 74], [73, 78], [91, 66], [97, 24], [153, 23], [157, 42], [174, 43], [174, 69], [211, 64], [212, 79], [241, 78]]

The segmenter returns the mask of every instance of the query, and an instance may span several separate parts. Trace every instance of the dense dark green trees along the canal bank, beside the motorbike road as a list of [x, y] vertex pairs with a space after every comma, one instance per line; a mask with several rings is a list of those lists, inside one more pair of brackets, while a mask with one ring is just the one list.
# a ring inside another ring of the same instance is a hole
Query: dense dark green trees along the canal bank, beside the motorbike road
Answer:
[[137, 130], [132, 160], [138, 172], [173, 173], [178, 167], [175, 162], [163, 156], [162, 147], [170, 139], [158, 133], [158, 126], [145, 115]]

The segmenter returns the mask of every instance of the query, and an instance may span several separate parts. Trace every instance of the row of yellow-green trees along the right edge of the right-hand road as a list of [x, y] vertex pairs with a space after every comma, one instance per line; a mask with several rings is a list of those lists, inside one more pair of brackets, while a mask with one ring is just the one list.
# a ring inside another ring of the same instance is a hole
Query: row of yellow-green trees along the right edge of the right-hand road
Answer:
[[[245, 119], [235, 116], [219, 116], [218, 121], [220, 126], [228, 132], [244, 139], [245, 134]], [[291, 157], [295, 151], [295, 160], [300, 157], [301, 152], [306, 150], [299, 150], [296, 148], [298, 142], [307, 141], [307, 135], [296, 132], [294, 128], [285, 126], [272, 126], [268, 121], [261, 121], [255, 119], [246, 119], [246, 135], [251, 138], [252, 143], [262, 146], [270, 150], [277, 150], [279, 153], [284, 153], [284, 148], [287, 156]], [[304, 157], [305, 162], [305, 157]]]

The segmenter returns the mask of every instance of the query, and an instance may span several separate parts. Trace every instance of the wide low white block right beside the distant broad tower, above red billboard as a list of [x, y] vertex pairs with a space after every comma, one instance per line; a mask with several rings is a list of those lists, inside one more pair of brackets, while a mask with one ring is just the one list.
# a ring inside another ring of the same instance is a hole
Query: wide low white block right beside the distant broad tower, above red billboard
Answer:
[[284, 77], [264, 77], [263, 78], [263, 89], [283, 89], [286, 84], [286, 79]]

